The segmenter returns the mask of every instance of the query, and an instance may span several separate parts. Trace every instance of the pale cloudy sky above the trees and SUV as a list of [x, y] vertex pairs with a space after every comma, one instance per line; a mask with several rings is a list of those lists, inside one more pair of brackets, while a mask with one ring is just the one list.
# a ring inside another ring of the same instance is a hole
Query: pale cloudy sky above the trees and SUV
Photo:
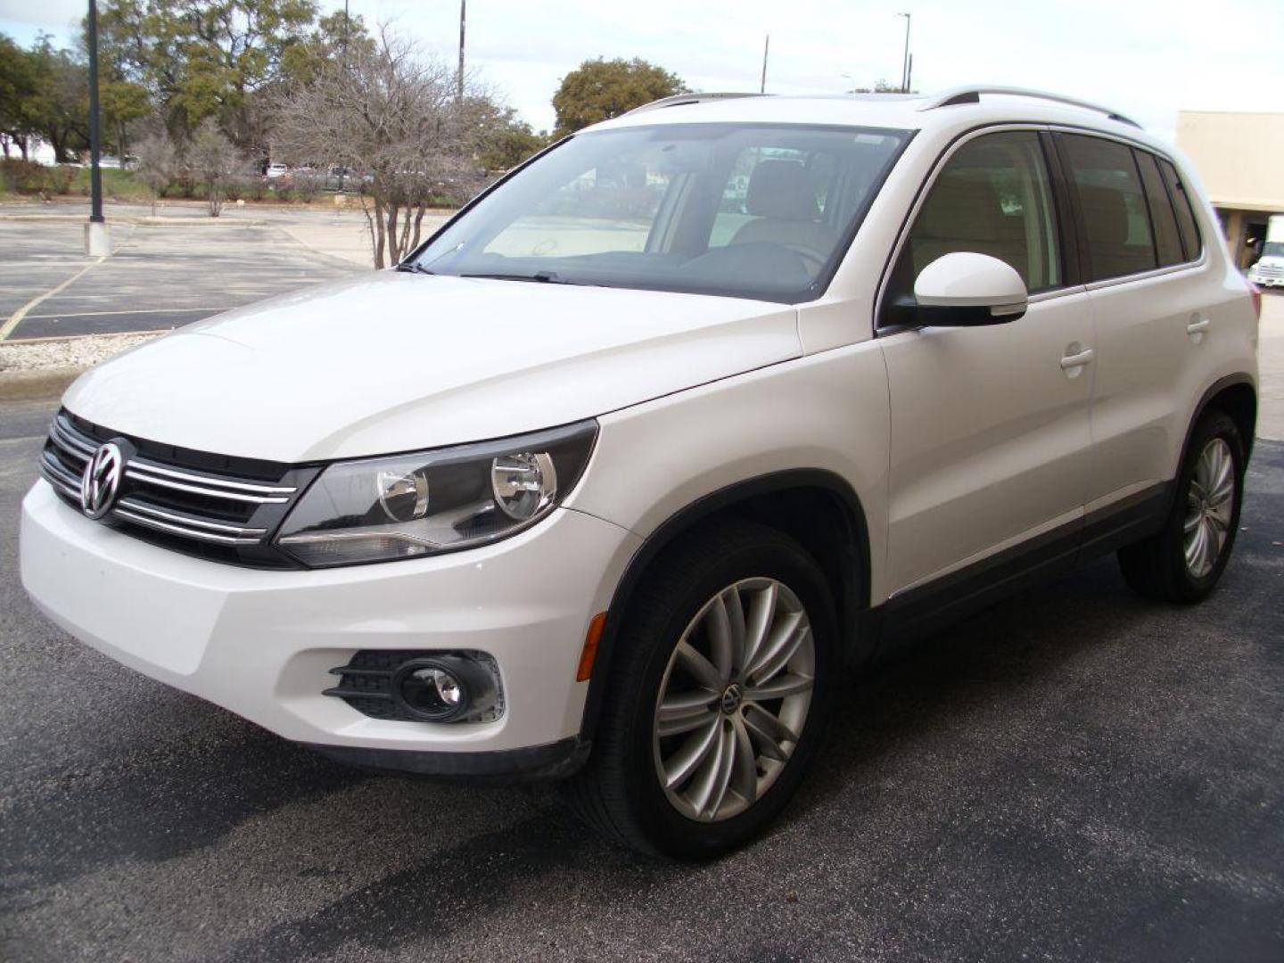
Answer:
[[[431, 55], [457, 56], [457, 0], [349, 0]], [[321, 0], [324, 12], [342, 9]], [[0, 32], [68, 44], [83, 0], [0, 0]], [[1171, 140], [1177, 110], [1284, 110], [1284, 0], [471, 0], [467, 63], [537, 130], [561, 77], [594, 56], [641, 56], [695, 90], [837, 94], [1003, 83], [1103, 103]]]

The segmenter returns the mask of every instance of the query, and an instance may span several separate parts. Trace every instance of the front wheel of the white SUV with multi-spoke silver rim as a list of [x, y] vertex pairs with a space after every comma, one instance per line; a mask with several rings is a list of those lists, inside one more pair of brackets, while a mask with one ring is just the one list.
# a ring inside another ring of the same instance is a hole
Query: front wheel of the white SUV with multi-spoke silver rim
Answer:
[[650, 855], [743, 845], [801, 782], [836, 682], [824, 575], [787, 535], [705, 528], [663, 553], [620, 628], [593, 756], [562, 795]]

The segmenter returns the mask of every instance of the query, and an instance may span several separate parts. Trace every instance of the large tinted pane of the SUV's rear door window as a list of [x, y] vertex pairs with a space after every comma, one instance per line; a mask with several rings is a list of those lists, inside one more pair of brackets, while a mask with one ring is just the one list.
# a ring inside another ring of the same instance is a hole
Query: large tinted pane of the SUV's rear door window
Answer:
[[1150, 216], [1132, 149], [1098, 137], [1061, 137], [1088, 231], [1091, 280], [1153, 270]]

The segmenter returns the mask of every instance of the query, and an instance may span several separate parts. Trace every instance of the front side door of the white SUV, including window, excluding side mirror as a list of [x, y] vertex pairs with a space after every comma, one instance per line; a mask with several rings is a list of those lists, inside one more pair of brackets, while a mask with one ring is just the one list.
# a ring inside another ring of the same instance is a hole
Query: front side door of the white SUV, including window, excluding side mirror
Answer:
[[1011, 324], [881, 331], [892, 412], [892, 592], [1040, 533], [1073, 530], [1082, 515], [1091, 321], [1064, 263], [1048, 148], [1035, 130], [957, 144], [896, 254], [881, 325], [895, 320], [891, 306], [910, 295], [918, 272], [953, 252], [1005, 261], [1031, 300]]

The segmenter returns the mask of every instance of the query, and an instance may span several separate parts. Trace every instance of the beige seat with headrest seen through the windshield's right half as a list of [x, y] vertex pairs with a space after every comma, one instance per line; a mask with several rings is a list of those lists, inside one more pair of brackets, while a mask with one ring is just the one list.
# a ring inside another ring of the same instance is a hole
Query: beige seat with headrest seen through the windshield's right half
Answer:
[[787, 244], [824, 259], [838, 243], [833, 230], [817, 220], [815, 190], [799, 160], [760, 162], [749, 178], [745, 209], [755, 220], [736, 231], [732, 244]]

